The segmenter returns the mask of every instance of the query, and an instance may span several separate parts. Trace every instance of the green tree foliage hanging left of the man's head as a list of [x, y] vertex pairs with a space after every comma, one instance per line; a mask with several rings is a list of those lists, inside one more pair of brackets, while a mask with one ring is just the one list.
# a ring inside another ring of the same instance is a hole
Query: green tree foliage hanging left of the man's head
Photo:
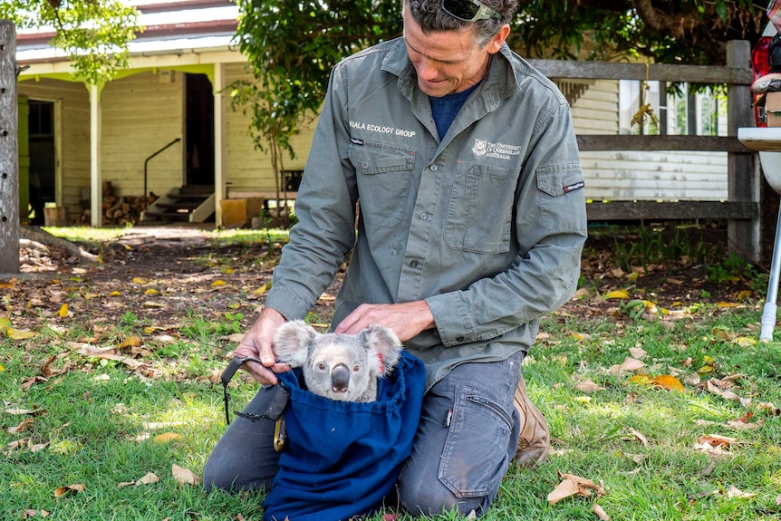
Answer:
[[237, 0], [236, 36], [254, 81], [228, 86], [234, 110], [250, 115], [256, 149], [269, 153], [281, 187], [290, 138], [319, 111], [329, 73], [342, 57], [400, 34], [397, 2]]

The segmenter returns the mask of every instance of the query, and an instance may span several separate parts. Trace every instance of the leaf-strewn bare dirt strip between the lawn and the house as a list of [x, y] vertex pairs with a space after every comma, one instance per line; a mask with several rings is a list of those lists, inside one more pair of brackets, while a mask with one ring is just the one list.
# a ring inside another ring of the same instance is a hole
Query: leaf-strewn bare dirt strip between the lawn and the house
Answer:
[[[23, 248], [22, 274], [0, 277], [5, 313], [14, 327], [33, 331], [43, 322], [72, 321], [95, 329], [131, 316], [164, 329], [196, 316], [216, 323], [237, 320], [246, 328], [265, 301], [281, 245], [228, 245], [214, 237], [191, 227], [133, 227], [92, 252], [101, 255], [100, 265], [81, 265], [62, 251]], [[647, 266], [637, 275], [624, 273], [614, 267], [615, 244], [612, 237], [589, 239], [582, 289], [558, 315], [625, 318], [621, 300], [604, 298], [621, 289], [632, 299], [658, 304], [659, 310], [696, 303], [745, 305], [747, 297], [764, 297], [750, 280], [712, 284], [707, 266], [686, 259]], [[338, 288], [337, 280], [323, 294], [313, 310], [315, 322], [328, 321]], [[63, 304], [68, 314], [60, 316]]]

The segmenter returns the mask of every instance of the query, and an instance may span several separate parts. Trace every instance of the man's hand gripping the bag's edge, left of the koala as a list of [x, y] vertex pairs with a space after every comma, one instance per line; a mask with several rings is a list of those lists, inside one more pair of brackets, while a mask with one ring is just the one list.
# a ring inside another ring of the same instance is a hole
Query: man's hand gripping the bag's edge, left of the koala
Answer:
[[276, 355], [272, 349], [274, 332], [283, 323], [285, 320], [282, 314], [266, 307], [234, 350], [236, 356], [254, 356], [263, 362], [263, 365], [257, 362], [245, 362], [243, 367], [256, 381], [264, 385], [276, 383], [276, 372], [290, 370], [290, 366], [286, 363], [276, 363]]

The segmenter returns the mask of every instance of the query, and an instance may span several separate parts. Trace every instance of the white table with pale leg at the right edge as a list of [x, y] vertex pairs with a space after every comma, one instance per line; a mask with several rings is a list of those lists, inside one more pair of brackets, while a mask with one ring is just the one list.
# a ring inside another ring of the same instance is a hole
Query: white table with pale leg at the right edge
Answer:
[[[738, 129], [738, 140], [751, 150], [759, 152], [759, 161], [767, 184], [781, 194], [781, 127], [746, 127]], [[762, 328], [759, 340], [773, 339], [776, 326], [778, 300], [778, 276], [781, 270], [781, 207], [778, 208], [776, 241], [773, 244], [773, 260], [770, 263], [770, 281], [767, 283], [767, 301], [762, 309]]]

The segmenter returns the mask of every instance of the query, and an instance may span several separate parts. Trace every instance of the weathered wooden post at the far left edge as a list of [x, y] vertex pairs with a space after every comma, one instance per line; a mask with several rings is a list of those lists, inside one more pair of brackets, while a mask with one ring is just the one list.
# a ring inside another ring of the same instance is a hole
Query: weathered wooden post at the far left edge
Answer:
[[0, 273], [19, 272], [16, 30], [0, 20]]

